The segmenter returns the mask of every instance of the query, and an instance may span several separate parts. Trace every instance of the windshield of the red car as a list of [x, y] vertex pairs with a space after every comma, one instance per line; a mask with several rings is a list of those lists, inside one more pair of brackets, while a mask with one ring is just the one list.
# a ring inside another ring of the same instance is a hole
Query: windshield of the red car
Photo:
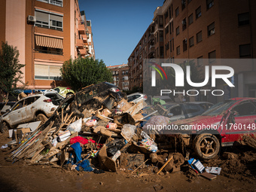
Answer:
[[211, 108], [206, 110], [202, 115], [204, 116], [215, 116], [221, 114], [223, 111], [227, 111], [236, 101], [227, 100], [224, 102], [218, 102], [215, 105], [212, 105]]

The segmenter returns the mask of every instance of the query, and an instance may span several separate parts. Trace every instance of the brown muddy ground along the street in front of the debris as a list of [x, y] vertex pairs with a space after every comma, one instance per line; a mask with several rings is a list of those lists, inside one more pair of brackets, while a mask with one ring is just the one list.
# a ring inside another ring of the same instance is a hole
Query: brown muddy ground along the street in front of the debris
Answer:
[[[6, 133], [0, 134], [1, 146], [9, 141]], [[186, 166], [161, 175], [154, 173], [154, 166], [133, 174], [127, 173], [130, 170], [95, 174], [49, 165], [28, 166], [23, 161], [6, 161], [7, 151], [0, 150], [0, 191], [256, 191], [256, 151], [248, 147], [224, 150], [234, 154], [229, 159], [221, 156], [202, 162], [222, 168], [221, 175], [212, 181], [187, 172]]]

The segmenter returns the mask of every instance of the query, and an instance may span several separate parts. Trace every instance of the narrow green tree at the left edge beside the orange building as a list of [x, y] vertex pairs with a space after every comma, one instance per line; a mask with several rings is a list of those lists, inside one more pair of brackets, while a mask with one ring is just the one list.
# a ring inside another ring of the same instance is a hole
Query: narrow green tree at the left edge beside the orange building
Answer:
[[[20, 70], [25, 65], [19, 63], [19, 50], [17, 47], [8, 45], [8, 42], [2, 42], [2, 50], [0, 50], [0, 94], [2, 98], [8, 99], [9, 94], [13, 94], [14, 90], [24, 89], [26, 84], [23, 83]], [[22, 85], [17, 86], [20, 82]]]

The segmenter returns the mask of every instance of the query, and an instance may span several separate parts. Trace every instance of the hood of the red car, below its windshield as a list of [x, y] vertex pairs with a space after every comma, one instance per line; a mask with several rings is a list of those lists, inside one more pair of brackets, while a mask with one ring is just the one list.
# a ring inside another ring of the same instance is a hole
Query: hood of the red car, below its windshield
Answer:
[[222, 115], [218, 116], [197, 116], [184, 120], [176, 120], [173, 122], [175, 125], [184, 125], [184, 124], [200, 124], [200, 125], [212, 125], [215, 123], [219, 123], [221, 121]]

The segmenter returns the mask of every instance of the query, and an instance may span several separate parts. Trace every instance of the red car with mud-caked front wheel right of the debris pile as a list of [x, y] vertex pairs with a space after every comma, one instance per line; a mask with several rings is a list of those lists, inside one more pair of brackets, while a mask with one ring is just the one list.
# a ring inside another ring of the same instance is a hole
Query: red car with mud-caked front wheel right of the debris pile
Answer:
[[218, 154], [220, 147], [234, 142], [244, 145], [246, 137], [256, 141], [255, 126], [256, 99], [233, 98], [212, 105], [200, 116], [175, 121], [171, 130], [181, 133], [185, 145], [209, 160]]

